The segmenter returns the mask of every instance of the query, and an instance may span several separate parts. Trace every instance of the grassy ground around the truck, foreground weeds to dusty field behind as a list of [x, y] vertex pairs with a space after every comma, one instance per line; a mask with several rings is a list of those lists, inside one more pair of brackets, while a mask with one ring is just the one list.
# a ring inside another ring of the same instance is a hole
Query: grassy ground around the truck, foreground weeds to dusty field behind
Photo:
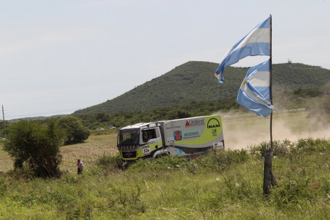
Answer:
[[[0, 150], [0, 219], [328, 219], [330, 142], [307, 111], [273, 116], [277, 186], [263, 195], [269, 117], [221, 114], [227, 150], [187, 162], [165, 157], [121, 169], [116, 133], [60, 147], [60, 178], [12, 171]], [[4, 141], [1, 141], [3, 144]], [[76, 160], [85, 165], [76, 173]]]

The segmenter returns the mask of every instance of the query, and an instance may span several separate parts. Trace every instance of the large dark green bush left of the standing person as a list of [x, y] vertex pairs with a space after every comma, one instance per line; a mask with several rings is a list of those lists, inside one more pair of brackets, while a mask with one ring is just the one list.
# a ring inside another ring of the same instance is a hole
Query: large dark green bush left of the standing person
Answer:
[[36, 121], [18, 121], [9, 127], [4, 150], [14, 160], [14, 168], [27, 165], [36, 177], [59, 177], [60, 144], [63, 130], [55, 119], [45, 124]]

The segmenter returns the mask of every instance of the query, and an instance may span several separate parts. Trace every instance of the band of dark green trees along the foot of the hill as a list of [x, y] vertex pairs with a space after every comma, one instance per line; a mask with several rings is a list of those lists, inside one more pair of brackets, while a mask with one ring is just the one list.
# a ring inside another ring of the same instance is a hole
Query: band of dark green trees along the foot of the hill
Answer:
[[[330, 87], [316, 89], [296, 89], [292, 92], [281, 92], [274, 94], [274, 105], [280, 109], [279, 113], [291, 109], [306, 109], [310, 116], [317, 118], [321, 113], [322, 121], [326, 122], [330, 114]], [[128, 124], [162, 121], [171, 119], [182, 119], [194, 116], [206, 116], [221, 112], [222, 116], [233, 114], [253, 114], [251, 111], [240, 106], [236, 97], [229, 99], [219, 99], [216, 101], [192, 101], [189, 104], [181, 104], [168, 107], [159, 107], [145, 111], [123, 111], [115, 114], [100, 112], [94, 115], [83, 114], [78, 116], [84, 126], [89, 129], [107, 128], [116, 126], [117, 128]], [[277, 111], [275, 111], [277, 112]], [[256, 116], [255, 114], [253, 114]]]

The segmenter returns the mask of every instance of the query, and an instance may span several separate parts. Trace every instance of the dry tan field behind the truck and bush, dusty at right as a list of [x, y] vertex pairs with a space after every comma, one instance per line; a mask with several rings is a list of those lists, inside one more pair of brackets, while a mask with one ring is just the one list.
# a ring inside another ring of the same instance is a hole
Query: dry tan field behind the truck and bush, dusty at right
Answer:
[[[221, 114], [224, 126], [226, 149], [241, 149], [263, 141], [270, 141], [270, 117], [255, 114]], [[273, 115], [273, 140], [297, 141], [299, 138], [329, 138], [330, 133], [323, 128], [313, 128], [314, 119], [307, 119], [305, 111], [287, 111]], [[328, 136], [329, 134], [329, 136]], [[1, 142], [0, 142], [1, 143]], [[9, 155], [0, 145], [0, 170], [12, 169]], [[116, 133], [92, 135], [84, 143], [64, 145], [61, 170], [75, 172], [76, 161], [80, 158], [86, 166], [94, 165], [100, 155], [116, 155]]]

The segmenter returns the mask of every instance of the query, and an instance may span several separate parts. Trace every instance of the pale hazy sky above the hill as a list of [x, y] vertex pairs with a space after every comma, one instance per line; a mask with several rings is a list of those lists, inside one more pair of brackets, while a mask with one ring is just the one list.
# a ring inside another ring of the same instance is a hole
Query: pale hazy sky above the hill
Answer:
[[[0, 104], [6, 120], [71, 114], [185, 62], [219, 63], [270, 14], [273, 63], [290, 59], [330, 69], [330, 0], [0, 4]], [[247, 57], [233, 66], [263, 60]]]

